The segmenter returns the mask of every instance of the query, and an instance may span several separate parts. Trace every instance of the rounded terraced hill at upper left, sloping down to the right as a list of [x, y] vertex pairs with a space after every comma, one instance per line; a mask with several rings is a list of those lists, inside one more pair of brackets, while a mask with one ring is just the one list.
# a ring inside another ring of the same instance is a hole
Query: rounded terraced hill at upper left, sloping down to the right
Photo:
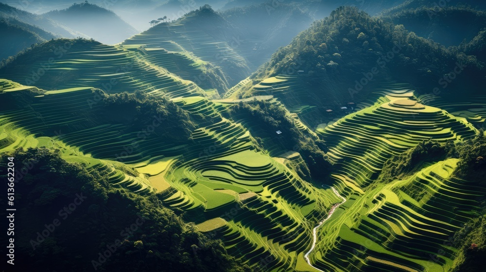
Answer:
[[174, 77], [167, 69], [143, 58], [138, 60], [139, 55], [134, 51], [137, 49], [107, 46], [94, 40], [56, 39], [8, 60], [0, 74], [2, 78], [44, 89], [96, 87], [117, 93], [135, 92], [145, 86], [145, 90], [174, 97], [204, 93], [194, 83]]

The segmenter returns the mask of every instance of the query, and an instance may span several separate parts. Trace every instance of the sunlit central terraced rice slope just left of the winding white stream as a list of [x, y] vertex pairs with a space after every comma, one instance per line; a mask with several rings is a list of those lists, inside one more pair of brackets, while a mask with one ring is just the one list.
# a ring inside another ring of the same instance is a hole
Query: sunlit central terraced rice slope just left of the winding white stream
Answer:
[[[312, 239], [314, 222], [340, 199], [256, 152], [245, 126], [210, 113], [219, 109], [216, 103], [202, 98], [175, 102], [193, 113], [207, 112], [215, 122], [193, 132], [200, 146], [167, 172], [171, 187], [161, 192], [162, 201], [186, 210], [202, 230], [216, 231], [229, 252], [255, 268], [264, 255], [272, 261], [263, 271], [312, 271], [300, 253]], [[222, 220], [226, 225], [209, 227]]]

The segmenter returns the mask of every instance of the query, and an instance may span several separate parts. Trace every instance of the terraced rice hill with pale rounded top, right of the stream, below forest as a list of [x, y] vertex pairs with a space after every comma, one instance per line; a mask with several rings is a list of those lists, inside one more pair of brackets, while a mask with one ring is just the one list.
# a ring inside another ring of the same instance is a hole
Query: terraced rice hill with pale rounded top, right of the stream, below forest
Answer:
[[[330, 149], [328, 155], [338, 164], [334, 180], [347, 190], [349, 185], [364, 188], [376, 178], [391, 156], [429, 139], [446, 142], [474, 137], [476, 129], [463, 118], [440, 108], [418, 103], [407, 85], [383, 86], [374, 103], [320, 128]], [[373, 101], [373, 100], [372, 100]]]

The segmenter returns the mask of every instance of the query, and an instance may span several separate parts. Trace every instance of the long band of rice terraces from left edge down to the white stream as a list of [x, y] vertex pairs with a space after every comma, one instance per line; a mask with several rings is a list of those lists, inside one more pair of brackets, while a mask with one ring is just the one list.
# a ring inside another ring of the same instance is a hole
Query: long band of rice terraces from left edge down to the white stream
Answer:
[[[71, 162], [107, 171], [113, 185], [140, 194], [157, 188], [165, 204], [193, 214], [203, 231], [217, 230], [228, 251], [255, 268], [265, 254], [272, 259], [265, 269], [312, 271], [301, 253], [309, 246], [314, 223], [340, 199], [255, 151], [245, 126], [221, 115], [225, 103], [198, 96], [174, 99], [192, 115], [213, 121], [193, 131], [196, 145], [163, 144], [153, 137], [139, 140], [137, 152], [119, 156], [137, 136], [124, 133], [122, 124], [89, 118], [102, 105], [89, 104], [93, 95], [87, 87], [47, 91], [29, 110], [1, 111], [0, 149], [50, 143]], [[66, 133], [64, 126], [76, 129]], [[127, 174], [123, 165], [137, 169], [139, 176]]]

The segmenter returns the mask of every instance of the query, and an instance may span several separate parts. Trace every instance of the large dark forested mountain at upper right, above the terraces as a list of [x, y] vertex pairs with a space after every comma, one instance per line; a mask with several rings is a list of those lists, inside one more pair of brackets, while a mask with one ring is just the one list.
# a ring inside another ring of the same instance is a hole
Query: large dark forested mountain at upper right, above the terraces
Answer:
[[[442, 88], [440, 79], [458, 63], [467, 66], [468, 73]], [[382, 80], [410, 82], [424, 93], [441, 88], [441, 95], [454, 97], [453, 90], [466, 85], [468, 93], [480, 93], [481, 88], [470, 83], [484, 80], [481, 70], [475, 57], [448, 51], [357, 8], [341, 7], [298, 34], [226, 97], [275, 95], [289, 108], [306, 105], [315, 109], [307, 119], [313, 126], [318, 125], [315, 120], [335, 118], [327, 109], [339, 112], [348, 102], [361, 102]]]

